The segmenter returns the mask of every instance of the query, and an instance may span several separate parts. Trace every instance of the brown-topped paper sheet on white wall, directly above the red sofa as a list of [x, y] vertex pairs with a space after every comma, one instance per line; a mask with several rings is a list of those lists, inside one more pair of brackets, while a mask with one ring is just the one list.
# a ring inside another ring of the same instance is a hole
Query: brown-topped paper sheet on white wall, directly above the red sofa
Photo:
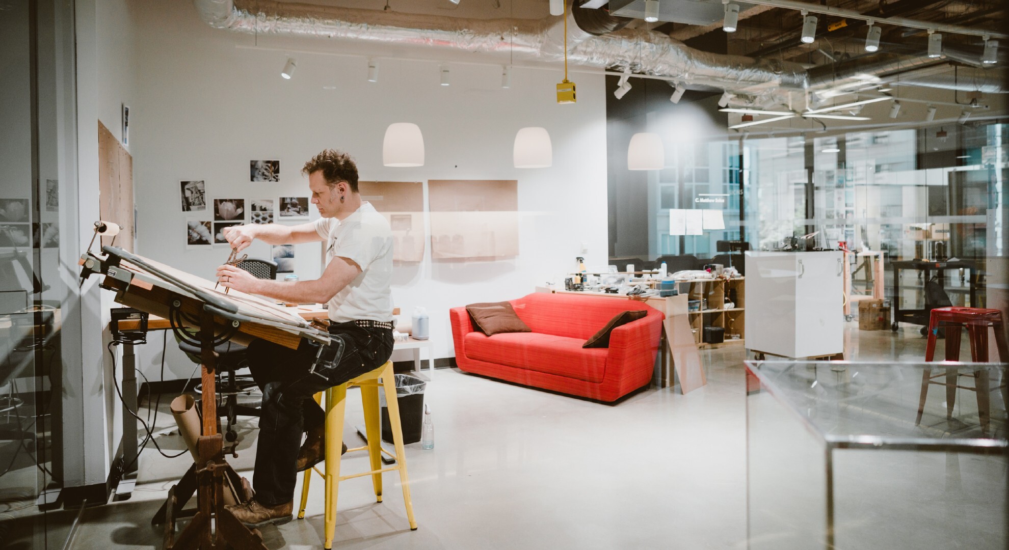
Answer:
[[431, 180], [432, 259], [519, 255], [519, 182]]

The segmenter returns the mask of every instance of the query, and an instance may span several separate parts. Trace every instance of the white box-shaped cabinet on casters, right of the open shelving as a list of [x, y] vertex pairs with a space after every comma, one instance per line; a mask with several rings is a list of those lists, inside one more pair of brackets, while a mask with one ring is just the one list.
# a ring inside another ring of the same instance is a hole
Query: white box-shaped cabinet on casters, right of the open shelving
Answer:
[[844, 267], [839, 250], [747, 252], [747, 348], [785, 357], [842, 353]]

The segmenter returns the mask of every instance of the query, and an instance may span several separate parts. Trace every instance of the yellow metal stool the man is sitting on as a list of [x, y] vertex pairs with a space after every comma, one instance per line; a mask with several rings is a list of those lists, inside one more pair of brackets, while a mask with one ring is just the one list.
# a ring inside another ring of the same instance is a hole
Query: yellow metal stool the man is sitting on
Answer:
[[[381, 381], [379, 381], [379, 378]], [[364, 427], [367, 432], [368, 444], [363, 447], [347, 449], [347, 452], [368, 451], [368, 458], [371, 460], [371, 469], [350, 475], [340, 475], [340, 451], [343, 450], [343, 414], [347, 403], [347, 388], [358, 386], [361, 389], [361, 405], [364, 408]], [[378, 411], [378, 387], [385, 390], [385, 403], [388, 406], [388, 421], [393, 428], [393, 443], [396, 447], [396, 465], [387, 468], [381, 467], [381, 453], [385, 451], [381, 448], [381, 424]], [[322, 393], [316, 394], [316, 402], [322, 404]], [[305, 470], [305, 480], [302, 483], [302, 506], [298, 512], [298, 519], [305, 518], [305, 507], [309, 500], [309, 481], [312, 479], [312, 470], [321, 475], [326, 480], [326, 512], [325, 530], [326, 544], [328, 549], [333, 548], [333, 533], [336, 531], [336, 496], [337, 484], [351, 477], [371, 476], [371, 484], [374, 485], [375, 500], [381, 502], [381, 474], [382, 472], [399, 470], [400, 484], [403, 485], [403, 500], [407, 505], [407, 520], [410, 521], [410, 529], [417, 529], [417, 521], [414, 520], [414, 505], [410, 502], [410, 481], [407, 478], [407, 456], [403, 448], [403, 429], [400, 426], [400, 404], [396, 400], [396, 376], [393, 373], [393, 362], [385, 364], [374, 370], [361, 374], [356, 378], [348, 380], [340, 386], [334, 386], [326, 390], [326, 460], [325, 471], [312, 467]]]

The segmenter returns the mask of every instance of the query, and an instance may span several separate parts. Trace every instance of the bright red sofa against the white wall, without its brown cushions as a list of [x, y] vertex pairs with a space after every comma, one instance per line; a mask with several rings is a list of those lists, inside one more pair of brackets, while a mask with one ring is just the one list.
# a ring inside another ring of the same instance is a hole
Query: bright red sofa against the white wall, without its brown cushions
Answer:
[[[486, 336], [474, 330], [466, 308], [449, 311], [460, 369], [605, 402], [651, 381], [663, 319], [655, 308], [627, 299], [548, 293], [510, 302], [532, 332]], [[581, 347], [627, 310], [648, 315], [614, 328], [608, 348]]]

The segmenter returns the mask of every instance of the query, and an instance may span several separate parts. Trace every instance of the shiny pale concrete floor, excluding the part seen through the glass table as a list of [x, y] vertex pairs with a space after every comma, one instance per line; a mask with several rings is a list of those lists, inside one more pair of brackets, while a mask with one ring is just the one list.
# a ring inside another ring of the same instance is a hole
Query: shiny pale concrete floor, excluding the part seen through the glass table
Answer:
[[[848, 323], [846, 337], [857, 360], [916, 361], [924, 354], [925, 341], [912, 328], [866, 332]], [[420, 528], [409, 529], [395, 473], [384, 475], [381, 504], [367, 477], [351, 479], [340, 484], [335, 547], [747, 548], [745, 350], [728, 345], [701, 356], [704, 388], [688, 395], [648, 389], [615, 406], [435, 371], [426, 396], [435, 448], [407, 447]], [[345, 437], [354, 446], [359, 440], [349, 426], [362, 423], [357, 392], [349, 394], [347, 411]], [[229, 458], [249, 477], [255, 422], [241, 423], [239, 456]], [[169, 415], [158, 417], [158, 428], [171, 424]], [[165, 452], [183, 448], [172, 433], [158, 441]], [[358, 471], [366, 462], [348, 455], [342, 468]], [[169, 460], [148, 446], [131, 499], [87, 510], [74, 547], [160, 547], [161, 531], [149, 520], [189, 464], [188, 456]], [[1004, 462], [1001, 480], [998, 468], [991, 481], [1004, 499]], [[305, 520], [262, 530], [267, 547], [321, 546], [322, 487], [316, 477]]]

